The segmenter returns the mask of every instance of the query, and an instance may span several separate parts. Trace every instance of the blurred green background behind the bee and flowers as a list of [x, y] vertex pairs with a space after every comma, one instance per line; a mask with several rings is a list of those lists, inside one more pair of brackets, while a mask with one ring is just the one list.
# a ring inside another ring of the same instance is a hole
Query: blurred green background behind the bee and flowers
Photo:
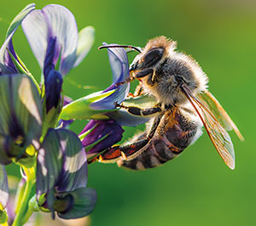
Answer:
[[[236, 150], [234, 171], [225, 166], [206, 133], [182, 156], [144, 172], [131, 172], [115, 164], [90, 165], [89, 186], [98, 194], [91, 225], [256, 225], [256, 2], [34, 2], [37, 8], [62, 4], [73, 12], [79, 29], [86, 25], [96, 28], [90, 54], [65, 79], [63, 91], [68, 96], [77, 99], [111, 83], [107, 51], [97, 50], [102, 42], [143, 47], [148, 39], [164, 35], [176, 40], [178, 50], [200, 63], [210, 78], [210, 91], [246, 139], [241, 143], [231, 133]], [[31, 2], [1, 0], [1, 42], [9, 22], [27, 3]], [[38, 64], [21, 29], [14, 43], [21, 59], [39, 78]], [[134, 56], [131, 54], [131, 59]], [[73, 130], [79, 132], [85, 123], [76, 121]], [[127, 129], [125, 138], [138, 129], [143, 127]], [[9, 172], [18, 171], [9, 167]]]

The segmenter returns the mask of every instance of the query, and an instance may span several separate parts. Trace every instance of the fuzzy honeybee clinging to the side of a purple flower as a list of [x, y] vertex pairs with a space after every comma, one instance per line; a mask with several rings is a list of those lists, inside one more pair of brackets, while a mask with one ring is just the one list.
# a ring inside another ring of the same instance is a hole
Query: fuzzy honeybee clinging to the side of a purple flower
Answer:
[[133, 170], [158, 167], [180, 155], [194, 144], [205, 127], [218, 154], [231, 169], [235, 168], [234, 147], [228, 130], [234, 129], [243, 140], [236, 124], [207, 90], [207, 75], [190, 56], [176, 51], [177, 42], [156, 37], [139, 49], [132, 46], [102, 48], [133, 48], [139, 52], [130, 65], [131, 80], [137, 79], [137, 95], [157, 99], [147, 109], [116, 105], [135, 116], [153, 116], [148, 129], [128, 144], [108, 148], [96, 157], [101, 162], [118, 162]]

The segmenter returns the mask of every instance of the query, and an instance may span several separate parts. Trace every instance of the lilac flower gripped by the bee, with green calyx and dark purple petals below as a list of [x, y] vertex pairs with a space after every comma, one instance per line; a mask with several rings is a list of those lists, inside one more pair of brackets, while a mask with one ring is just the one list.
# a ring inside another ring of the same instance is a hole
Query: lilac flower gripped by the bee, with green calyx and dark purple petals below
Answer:
[[[112, 45], [116, 46], [108, 46]], [[130, 83], [126, 82], [130, 78], [129, 62], [124, 48], [108, 48], [108, 56], [113, 71], [110, 87], [66, 105], [60, 116], [63, 120], [93, 119], [79, 134], [89, 160], [121, 140], [122, 126], [135, 127], [150, 119], [149, 116], [132, 116], [115, 107], [116, 103], [124, 104], [129, 93]], [[141, 99], [130, 100], [130, 104], [141, 104]], [[148, 99], [143, 99], [143, 104], [147, 102]]]

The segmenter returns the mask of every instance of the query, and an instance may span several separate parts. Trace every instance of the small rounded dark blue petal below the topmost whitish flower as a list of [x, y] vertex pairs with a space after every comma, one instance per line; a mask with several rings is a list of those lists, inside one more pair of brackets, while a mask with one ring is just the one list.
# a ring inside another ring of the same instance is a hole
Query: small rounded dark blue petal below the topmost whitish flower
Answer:
[[57, 108], [61, 99], [62, 76], [58, 71], [50, 71], [45, 81], [46, 112]]

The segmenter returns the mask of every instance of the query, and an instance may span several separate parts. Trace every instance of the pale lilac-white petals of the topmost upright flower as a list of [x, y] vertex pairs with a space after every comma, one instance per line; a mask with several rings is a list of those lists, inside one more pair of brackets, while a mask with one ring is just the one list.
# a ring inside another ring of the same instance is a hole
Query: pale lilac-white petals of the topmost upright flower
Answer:
[[61, 5], [33, 11], [23, 20], [22, 28], [42, 71], [46, 50], [55, 39], [52, 63], [62, 76], [80, 64], [94, 42], [94, 29], [88, 26], [78, 32], [73, 14]]

